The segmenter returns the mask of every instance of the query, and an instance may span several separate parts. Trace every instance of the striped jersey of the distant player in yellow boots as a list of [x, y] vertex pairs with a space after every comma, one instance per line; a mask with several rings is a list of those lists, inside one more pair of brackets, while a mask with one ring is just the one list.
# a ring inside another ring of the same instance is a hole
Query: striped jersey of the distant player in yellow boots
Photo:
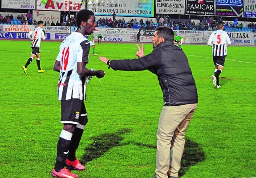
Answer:
[[41, 39], [45, 40], [46, 36], [43, 28], [37, 27], [28, 33], [28, 38], [32, 40], [31, 47], [40, 47]]

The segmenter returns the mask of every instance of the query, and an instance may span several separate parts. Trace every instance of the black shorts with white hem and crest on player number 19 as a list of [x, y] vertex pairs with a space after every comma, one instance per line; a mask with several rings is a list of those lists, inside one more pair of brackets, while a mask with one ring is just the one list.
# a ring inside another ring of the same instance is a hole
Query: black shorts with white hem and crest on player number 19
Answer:
[[[87, 119], [84, 101], [80, 99], [61, 100], [61, 123], [79, 124], [82, 119]], [[87, 121], [83, 123], [86, 124]]]

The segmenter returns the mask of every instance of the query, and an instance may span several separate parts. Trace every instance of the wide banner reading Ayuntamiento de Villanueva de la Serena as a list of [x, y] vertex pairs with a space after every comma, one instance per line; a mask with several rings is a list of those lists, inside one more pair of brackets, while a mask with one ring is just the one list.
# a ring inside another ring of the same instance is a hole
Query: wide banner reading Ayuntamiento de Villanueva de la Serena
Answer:
[[153, 17], [154, 0], [88, 0], [87, 8], [97, 16]]

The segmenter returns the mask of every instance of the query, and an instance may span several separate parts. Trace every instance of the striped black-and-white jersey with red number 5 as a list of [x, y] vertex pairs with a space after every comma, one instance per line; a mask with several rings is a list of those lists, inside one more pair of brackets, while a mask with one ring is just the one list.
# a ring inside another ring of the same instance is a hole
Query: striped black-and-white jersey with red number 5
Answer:
[[227, 47], [231, 44], [231, 41], [227, 32], [217, 30], [211, 33], [207, 44], [212, 46], [213, 56], [224, 56], [227, 55]]

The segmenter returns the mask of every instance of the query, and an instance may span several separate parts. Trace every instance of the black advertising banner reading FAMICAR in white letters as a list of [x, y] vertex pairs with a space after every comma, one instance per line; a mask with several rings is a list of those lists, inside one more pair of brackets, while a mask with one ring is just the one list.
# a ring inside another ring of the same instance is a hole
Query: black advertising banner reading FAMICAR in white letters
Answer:
[[214, 16], [214, 0], [187, 0], [186, 15]]

